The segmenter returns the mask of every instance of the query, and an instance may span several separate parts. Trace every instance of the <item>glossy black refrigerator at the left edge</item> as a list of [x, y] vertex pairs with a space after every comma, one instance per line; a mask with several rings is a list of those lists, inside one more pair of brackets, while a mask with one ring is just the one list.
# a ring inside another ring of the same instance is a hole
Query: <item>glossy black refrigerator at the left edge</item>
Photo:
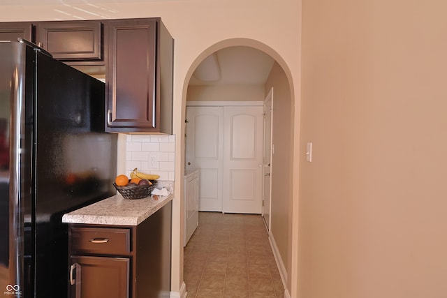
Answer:
[[25, 40], [0, 42], [0, 297], [67, 296], [61, 217], [115, 194], [104, 89]]

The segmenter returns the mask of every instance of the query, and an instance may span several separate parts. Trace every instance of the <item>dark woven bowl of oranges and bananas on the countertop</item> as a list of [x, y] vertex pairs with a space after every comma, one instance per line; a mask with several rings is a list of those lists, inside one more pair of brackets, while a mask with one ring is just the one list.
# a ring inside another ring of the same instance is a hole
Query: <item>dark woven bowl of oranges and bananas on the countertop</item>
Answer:
[[[140, 176], [138, 176], [140, 174]], [[131, 173], [131, 179], [124, 174], [120, 174], [115, 178], [113, 186], [125, 199], [134, 200], [147, 198], [151, 195], [156, 185], [156, 179], [159, 176], [151, 174], [143, 174], [136, 169]], [[147, 179], [156, 178], [156, 179]]]

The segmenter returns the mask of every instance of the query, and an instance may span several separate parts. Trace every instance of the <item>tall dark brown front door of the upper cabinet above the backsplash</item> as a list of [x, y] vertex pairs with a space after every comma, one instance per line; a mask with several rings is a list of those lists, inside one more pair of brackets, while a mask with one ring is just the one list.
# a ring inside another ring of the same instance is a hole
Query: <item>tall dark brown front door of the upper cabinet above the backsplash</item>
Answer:
[[105, 24], [108, 131], [156, 130], [156, 20]]

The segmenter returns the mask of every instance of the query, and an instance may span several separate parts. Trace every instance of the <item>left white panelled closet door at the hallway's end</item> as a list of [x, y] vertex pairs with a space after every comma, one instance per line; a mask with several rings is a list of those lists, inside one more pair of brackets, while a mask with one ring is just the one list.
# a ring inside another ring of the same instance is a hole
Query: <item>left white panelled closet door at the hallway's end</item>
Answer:
[[222, 211], [223, 108], [186, 107], [186, 170], [200, 169], [199, 210]]

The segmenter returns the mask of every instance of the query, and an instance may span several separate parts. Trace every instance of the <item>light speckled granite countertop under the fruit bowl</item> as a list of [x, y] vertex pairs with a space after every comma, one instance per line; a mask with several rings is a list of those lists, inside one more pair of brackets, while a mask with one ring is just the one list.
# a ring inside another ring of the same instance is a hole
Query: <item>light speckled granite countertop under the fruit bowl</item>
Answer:
[[96, 225], [139, 225], [146, 218], [173, 200], [173, 195], [129, 200], [122, 195], [96, 202], [64, 214], [63, 223], [87, 223]]

